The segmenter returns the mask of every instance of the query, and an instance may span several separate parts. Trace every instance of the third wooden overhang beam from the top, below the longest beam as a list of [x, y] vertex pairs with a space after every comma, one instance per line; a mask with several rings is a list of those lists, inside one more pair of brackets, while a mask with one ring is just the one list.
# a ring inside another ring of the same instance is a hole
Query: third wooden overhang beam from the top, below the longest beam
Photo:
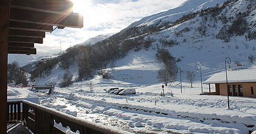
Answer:
[[38, 32], [52, 32], [53, 27], [44, 24], [33, 24], [33, 23], [24, 23], [17, 21], [10, 21], [9, 29], [13, 30], [30, 30]]

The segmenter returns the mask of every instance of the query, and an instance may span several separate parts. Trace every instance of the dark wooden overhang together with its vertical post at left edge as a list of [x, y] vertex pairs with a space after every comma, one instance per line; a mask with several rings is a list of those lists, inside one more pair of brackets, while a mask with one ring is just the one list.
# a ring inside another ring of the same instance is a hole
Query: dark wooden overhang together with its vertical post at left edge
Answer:
[[7, 133], [7, 56], [37, 54], [45, 32], [82, 28], [71, 0], [0, 0], [0, 133]]

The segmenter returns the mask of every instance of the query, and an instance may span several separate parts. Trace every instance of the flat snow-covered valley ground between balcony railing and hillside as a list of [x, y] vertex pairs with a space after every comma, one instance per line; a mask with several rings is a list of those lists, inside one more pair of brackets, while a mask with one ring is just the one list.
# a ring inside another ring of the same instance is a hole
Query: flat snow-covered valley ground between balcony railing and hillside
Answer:
[[[183, 93], [180, 93], [179, 83], [174, 82], [165, 87], [165, 97], [160, 96], [161, 83], [137, 85], [100, 76], [90, 82], [94, 85], [93, 91], [84, 82], [74, 83], [69, 88], [55, 88], [50, 96], [46, 95], [47, 91], [9, 87], [8, 96], [38, 96], [41, 105], [46, 107], [134, 133], [248, 133], [256, 130], [255, 98], [230, 97], [230, 109], [227, 109], [226, 96], [200, 96], [198, 82], [194, 83], [194, 88], [183, 83]], [[104, 92], [112, 87], [137, 88], [137, 94], [118, 96]]]

